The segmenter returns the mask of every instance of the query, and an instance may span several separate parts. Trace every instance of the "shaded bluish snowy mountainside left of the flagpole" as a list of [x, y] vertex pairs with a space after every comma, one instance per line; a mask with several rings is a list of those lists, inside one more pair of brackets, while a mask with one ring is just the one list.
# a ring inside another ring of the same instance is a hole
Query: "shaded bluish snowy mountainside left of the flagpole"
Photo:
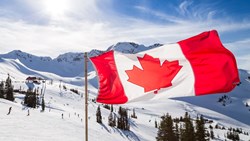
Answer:
[[83, 53], [65, 53], [55, 59], [38, 57], [19, 50], [0, 55], [0, 58], [19, 60], [26, 67], [63, 77], [74, 77], [83, 70]]

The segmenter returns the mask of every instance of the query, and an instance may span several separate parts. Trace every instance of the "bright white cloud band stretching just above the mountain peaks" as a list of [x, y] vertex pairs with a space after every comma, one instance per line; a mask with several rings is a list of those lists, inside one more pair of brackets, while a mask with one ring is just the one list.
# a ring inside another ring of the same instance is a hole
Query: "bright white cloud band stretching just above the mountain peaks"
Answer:
[[[223, 26], [216, 26], [207, 23], [159, 25], [135, 19], [128, 22], [130, 23], [125, 27], [110, 22], [89, 21], [71, 21], [60, 26], [44, 26], [2, 19], [0, 21], [1, 52], [21, 49], [42, 54], [40, 52], [55, 49], [57, 55], [65, 51], [106, 49], [119, 41], [134, 41], [146, 45], [156, 42], [169, 43], [210, 29], [227, 32], [246, 28], [241, 24], [226, 23], [223, 23]], [[249, 28], [250, 25], [247, 27]]]

